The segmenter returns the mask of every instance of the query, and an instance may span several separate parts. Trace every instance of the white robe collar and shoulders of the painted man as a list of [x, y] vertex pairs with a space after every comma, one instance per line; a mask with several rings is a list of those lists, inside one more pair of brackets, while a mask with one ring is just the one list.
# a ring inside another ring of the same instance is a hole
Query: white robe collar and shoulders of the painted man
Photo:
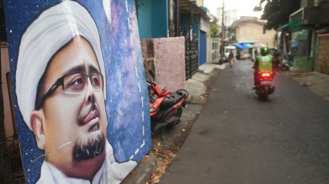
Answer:
[[[124, 177], [137, 165], [136, 161], [129, 160], [127, 162], [118, 163], [114, 159], [112, 146], [106, 141], [106, 156], [102, 167], [95, 174], [92, 184], [99, 183], [120, 183]], [[86, 168], [88, 169], [88, 168]], [[88, 183], [89, 180], [68, 177], [54, 165], [47, 161], [43, 161], [41, 166], [41, 174], [37, 183], [49, 184], [71, 184], [71, 183]]]

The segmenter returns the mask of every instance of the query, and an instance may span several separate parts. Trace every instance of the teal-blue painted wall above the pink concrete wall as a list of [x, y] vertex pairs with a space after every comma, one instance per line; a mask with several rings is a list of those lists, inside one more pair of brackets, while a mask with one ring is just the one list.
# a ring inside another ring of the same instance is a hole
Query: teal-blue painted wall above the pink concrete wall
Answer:
[[168, 0], [139, 0], [140, 38], [168, 37]]

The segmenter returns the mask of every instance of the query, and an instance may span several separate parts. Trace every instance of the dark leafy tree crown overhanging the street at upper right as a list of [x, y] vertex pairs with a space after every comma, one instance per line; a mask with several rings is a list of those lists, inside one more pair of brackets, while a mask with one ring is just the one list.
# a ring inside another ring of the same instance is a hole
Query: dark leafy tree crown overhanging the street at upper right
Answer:
[[[266, 3], [265, 6], [262, 4]], [[255, 12], [264, 10], [261, 19], [267, 20], [265, 29], [278, 29], [280, 26], [289, 23], [290, 14], [300, 8], [300, 0], [260, 0], [253, 9]]]

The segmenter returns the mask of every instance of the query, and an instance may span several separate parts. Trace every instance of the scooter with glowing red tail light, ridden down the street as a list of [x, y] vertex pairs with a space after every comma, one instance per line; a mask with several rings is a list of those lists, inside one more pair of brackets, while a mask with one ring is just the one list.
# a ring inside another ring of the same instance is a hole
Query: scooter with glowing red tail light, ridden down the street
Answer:
[[266, 100], [269, 95], [274, 93], [275, 86], [273, 83], [273, 74], [269, 71], [264, 71], [258, 75], [258, 84], [255, 86], [256, 94], [263, 100]]

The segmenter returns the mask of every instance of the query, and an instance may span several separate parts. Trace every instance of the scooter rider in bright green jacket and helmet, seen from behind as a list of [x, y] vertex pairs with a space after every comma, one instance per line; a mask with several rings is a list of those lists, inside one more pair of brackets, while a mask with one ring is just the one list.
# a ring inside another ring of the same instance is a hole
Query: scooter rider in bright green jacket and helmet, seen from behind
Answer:
[[274, 76], [273, 56], [269, 54], [269, 47], [260, 48], [261, 55], [257, 56], [253, 65], [254, 85], [259, 83], [258, 75], [263, 71], [269, 71]]

